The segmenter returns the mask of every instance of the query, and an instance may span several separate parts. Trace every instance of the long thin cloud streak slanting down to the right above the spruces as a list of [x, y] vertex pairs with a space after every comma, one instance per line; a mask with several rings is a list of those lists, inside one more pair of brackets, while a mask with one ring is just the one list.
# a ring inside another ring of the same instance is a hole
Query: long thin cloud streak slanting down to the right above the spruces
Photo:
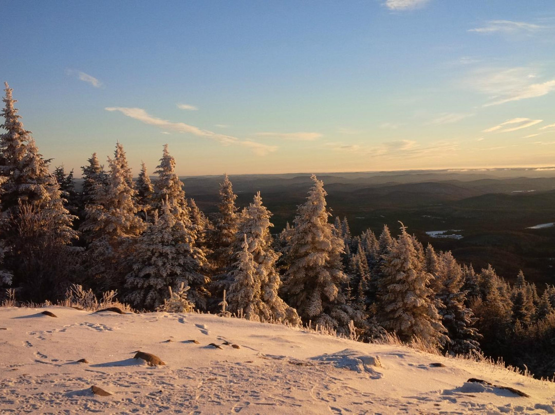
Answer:
[[241, 145], [249, 148], [258, 155], [266, 155], [271, 151], [275, 151], [278, 149], [278, 147], [275, 145], [256, 143], [255, 141], [251, 140], [241, 140], [230, 135], [217, 134], [213, 131], [203, 130], [195, 127], [194, 125], [189, 125], [185, 123], [173, 123], [162, 118], [153, 117], [142, 108], [107, 107], [104, 109], [107, 111], [118, 111], [124, 115], [127, 115], [127, 117], [138, 120], [144, 124], [155, 125], [165, 130], [177, 131], [178, 133], [188, 133], [199, 137], [209, 138], [223, 145]]

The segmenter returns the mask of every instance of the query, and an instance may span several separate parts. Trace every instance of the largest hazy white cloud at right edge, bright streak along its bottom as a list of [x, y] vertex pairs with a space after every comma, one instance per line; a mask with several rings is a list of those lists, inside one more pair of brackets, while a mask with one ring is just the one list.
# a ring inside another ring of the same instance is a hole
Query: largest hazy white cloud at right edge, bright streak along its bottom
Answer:
[[491, 107], [508, 102], [542, 97], [555, 90], [555, 79], [537, 81], [538, 75], [531, 68], [485, 68], [471, 73], [465, 80], [467, 86], [488, 94], [490, 102], [482, 107]]

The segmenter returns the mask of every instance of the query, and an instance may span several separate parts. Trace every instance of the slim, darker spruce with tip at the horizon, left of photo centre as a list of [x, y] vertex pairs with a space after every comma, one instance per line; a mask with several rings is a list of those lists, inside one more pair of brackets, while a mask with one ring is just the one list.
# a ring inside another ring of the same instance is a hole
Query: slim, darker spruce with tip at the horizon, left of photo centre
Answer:
[[220, 184], [220, 203], [218, 215], [214, 221], [214, 231], [211, 232], [212, 262], [216, 273], [225, 272], [226, 267], [233, 263], [233, 242], [238, 231], [238, 214], [235, 206], [237, 195], [233, 193], [233, 185], [227, 174]]

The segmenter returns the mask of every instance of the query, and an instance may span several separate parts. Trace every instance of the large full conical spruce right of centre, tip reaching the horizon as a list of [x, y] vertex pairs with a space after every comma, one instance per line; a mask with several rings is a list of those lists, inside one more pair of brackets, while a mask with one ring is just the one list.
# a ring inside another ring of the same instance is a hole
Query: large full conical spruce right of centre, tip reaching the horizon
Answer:
[[284, 293], [305, 323], [347, 331], [351, 320], [341, 285], [348, 280], [342, 270], [344, 243], [328, 223], [324, 183], [312, 175], [314, 186], [297, 209], [286, 261]]

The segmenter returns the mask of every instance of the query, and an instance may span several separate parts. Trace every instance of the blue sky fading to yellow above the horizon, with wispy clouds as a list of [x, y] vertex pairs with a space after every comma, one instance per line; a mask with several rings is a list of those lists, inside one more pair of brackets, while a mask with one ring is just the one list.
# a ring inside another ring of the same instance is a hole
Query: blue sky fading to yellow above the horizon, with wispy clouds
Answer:
[[555, 165], [552, 0], [0, 9], [0, 79], [76, 176], [118, 141], [135, 175], [164, 144], [180, 175]]

